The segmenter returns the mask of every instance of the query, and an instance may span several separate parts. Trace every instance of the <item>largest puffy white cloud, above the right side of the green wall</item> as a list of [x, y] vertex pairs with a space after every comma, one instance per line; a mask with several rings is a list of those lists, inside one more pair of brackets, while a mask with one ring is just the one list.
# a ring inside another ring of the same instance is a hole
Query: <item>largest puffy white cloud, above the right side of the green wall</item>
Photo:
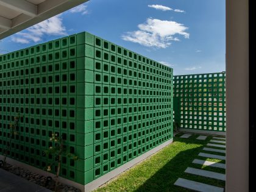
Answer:
[[155, 48], [167, 48], [171, 41], [180, 41], [174, 35], [183, 35], [189, 38], [190, 34], [185, 32], [188, 27], [176, 21], [163, 21], [148, 18], [146, 23], [138, 25], [139, 30], [126, 32], [122, 35], [123, 40], [139, 43], [143, 46]]

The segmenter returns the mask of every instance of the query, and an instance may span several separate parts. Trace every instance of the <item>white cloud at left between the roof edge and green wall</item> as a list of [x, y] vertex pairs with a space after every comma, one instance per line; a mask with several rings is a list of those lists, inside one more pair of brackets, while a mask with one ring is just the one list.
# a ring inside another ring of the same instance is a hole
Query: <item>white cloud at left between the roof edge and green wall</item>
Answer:
[[43, 35], [66, 35], [66, 28], [60, 16], [61, 14], [35, 24], [25, 32], [15, 34], [11, 39], [15, 43], [30, 43], [30, 41], [37, 43], [42, 40]]

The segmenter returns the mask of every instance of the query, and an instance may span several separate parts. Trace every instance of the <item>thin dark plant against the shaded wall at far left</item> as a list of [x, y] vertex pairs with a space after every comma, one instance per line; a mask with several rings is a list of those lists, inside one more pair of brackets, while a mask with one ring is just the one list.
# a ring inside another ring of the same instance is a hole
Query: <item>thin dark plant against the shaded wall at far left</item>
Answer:
[[18, 128], [20, 124], [20, 112], [18, 112], [18, 115], [14, 117], [14, 122], [10, 123], [9, 125], [9, 134], [7, 134], [7, 137], [9, 136], [9, 141], [6, 143], [6, 148], [3, 150], [4, 153], [4, 160], [2, 161], [2, 166], [5, 166], [7, 163], [7, 155], [10, 154], [11, 148], [12, 148], [12, 140], [15, 137], [15, 135], [18, 135]]

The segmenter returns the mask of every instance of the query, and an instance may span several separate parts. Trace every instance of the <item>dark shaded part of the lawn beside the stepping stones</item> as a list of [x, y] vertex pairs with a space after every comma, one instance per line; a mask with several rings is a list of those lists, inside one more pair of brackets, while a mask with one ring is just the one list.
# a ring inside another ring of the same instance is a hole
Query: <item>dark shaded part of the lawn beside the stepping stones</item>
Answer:
[[[185, 144], [203, 144], [200, 147], [187, 149], [185, 151], [179, 152], [175, 157], [171, 158], [169, 162], [167, 162], [161, 169], [159, 169], [153, 176], [151, 176], [146, 182], [143, 183], [140, 187], [137, 188], [137, 192], [141, 191], [191, 191], [182, 187], [177, 187], [174, 185], [176, 180], [179, 177], [184, 179], [191, 179], [197, 182], [209, 183], [215, 186], [224, 187], [225, 182], [219, 181], [216, 179], [210, 179], [207, 177], [196, 176], [193, 174], [185, 173], [185, 169], [190, 166], [194, 160], [194, 158], [198, 158], [199, 152], [202, 152], [202, 148], [204, 148], [205, 144], [210, 137], [205, 141], [196, 140], [198, 135], [192, 135], [191, 138], [182, 139], [182, 138], [174, 138], [174, 142], [183, 142]], [[166, 154], [168, 155], [168, 154]]]

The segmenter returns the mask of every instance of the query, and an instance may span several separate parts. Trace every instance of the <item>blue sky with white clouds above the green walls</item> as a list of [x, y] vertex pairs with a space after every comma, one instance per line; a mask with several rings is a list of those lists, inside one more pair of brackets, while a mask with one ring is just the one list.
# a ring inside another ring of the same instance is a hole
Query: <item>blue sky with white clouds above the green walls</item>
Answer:
[[0, 41], [0, 53], [87, 31], [174, 68], [225, 71], [225, 1], [91, 0]]

